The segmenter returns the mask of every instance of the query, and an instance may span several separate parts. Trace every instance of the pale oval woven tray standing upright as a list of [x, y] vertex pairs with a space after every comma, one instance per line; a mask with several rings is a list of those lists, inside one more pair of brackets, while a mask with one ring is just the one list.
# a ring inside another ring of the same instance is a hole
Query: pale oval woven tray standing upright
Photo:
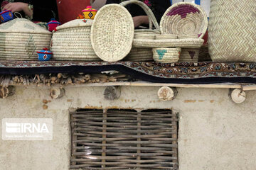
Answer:
[[117, 62], [128, 55], [134, 39], [132, 16], [124, 6], [110, 4], [97, 12], [91, 41], [95, 53], [105, 62]]

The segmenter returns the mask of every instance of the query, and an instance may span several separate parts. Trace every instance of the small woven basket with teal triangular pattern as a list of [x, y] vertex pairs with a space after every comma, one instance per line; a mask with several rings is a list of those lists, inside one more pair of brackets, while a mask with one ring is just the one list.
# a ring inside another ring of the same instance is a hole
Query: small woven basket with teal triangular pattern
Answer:
[[153, 59], [156, 62], [178, 62], [179, 56], [181, 55], [181, 48], [153, 48]]

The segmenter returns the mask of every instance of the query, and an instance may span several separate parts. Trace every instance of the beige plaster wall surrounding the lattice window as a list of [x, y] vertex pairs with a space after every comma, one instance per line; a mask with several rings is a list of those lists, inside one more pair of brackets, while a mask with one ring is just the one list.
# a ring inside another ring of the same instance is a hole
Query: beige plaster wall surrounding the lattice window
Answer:
[[0, 99], [0, 120], [53, 119], [51, 141], [0, 139], [0, 170], [68, 170], [69, 110], [75, 108], [172, 108], [179, 113], [180, 170], [255, 170], [255, 91], [247, 92], [245, 103], [238, 105], [228, 98], [228, 89], [178, 89], [174, 101], [160, 101], [159, 87], [134, 86], [122, 87], [117, 101], [106, 101], [104, 89], [68, 86], [63, 98], [51, 100], [47, 87], [19, 86], [14, 96]]

